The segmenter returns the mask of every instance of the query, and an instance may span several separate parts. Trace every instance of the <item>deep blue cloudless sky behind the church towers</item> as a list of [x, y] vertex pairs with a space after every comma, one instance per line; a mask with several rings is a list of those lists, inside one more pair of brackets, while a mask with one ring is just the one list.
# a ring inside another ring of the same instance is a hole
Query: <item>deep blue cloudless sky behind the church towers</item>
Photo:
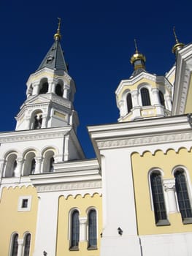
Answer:
[[133, 70], [134, 38], [147, 71], [164, 75], [174, 64], [173, 26], [181, 42], [192, 41], [191, 10], [190, 0], [1, 1], [0, 130], [15, 129], [26, 81], [53, 44], [60, 17], [61, 45], [77, 87], [77, 135], [86, 156], [95, 157], [86, 127], [118, 120], [115, 89]]

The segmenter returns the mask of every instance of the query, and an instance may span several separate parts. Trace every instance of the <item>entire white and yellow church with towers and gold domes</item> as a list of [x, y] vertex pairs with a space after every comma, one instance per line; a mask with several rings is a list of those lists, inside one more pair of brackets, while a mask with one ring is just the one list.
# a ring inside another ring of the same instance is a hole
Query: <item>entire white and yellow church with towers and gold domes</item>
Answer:
[[59, 20], [15, 131], [0, 133], [0, 255], [192, 255], [192, 44], [174, 36], [164, 76], [135, 43], [119, 118], [88, 127], [86, 159]]

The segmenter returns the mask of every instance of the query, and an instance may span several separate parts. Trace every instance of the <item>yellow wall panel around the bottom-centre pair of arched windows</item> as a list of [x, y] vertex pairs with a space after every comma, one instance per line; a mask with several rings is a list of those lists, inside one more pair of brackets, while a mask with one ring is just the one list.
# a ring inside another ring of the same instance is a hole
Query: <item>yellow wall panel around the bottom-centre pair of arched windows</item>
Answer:
[[[98, 244], [96, 250], [88, 250], [88, 243], [80, 242], [79, 251], [70, 251], [69, 250], [69, 211], [72, 208], [77, 208], [80, 210], [80, 217], [87, 217], [88, 208], [96, 208], [97, 210], [97, 237]], [[100, 234], [101, 234], [101, 196], [98, 194], [94, 194], [93, 197], [91, 195], [85, 195], [82, 197], [81, 195], [77, 195], [76, 197], [69, 196], [65, 198], [61, 196], [59, 198], [59, 206], [58, 206], [58, 237], [57, 237], [57, 253], [56, 255], [82, 255], [82, 256], [99, 256], [99, 248], [100, 248]]]

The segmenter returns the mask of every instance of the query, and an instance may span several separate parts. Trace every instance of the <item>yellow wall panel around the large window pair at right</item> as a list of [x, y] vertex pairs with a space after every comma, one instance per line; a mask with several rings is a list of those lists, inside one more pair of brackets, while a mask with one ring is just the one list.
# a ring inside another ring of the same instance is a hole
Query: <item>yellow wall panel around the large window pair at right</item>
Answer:
[[178, 153], [170, 149], [164, 154], [157, 151], [155, 155], [146, 152], [143, 156], [134, 153], [131, 156], [134, 177], [134, 191], [137, 207], [137, 223], [139, 235], [191, 232], [192, 224], [183, 225], [180, 213], [169, 214], [171, 225], [157, 227], [155, 225], [154, 212], [150, 205], [150, 187], [148, 172], [152, 168], [160, 168], [164, 171], [163, 179], [174, 178], [172, 170], [177, 165], [183, 165], [188, 169], [192, 181], [192, 152], [181, 148]]

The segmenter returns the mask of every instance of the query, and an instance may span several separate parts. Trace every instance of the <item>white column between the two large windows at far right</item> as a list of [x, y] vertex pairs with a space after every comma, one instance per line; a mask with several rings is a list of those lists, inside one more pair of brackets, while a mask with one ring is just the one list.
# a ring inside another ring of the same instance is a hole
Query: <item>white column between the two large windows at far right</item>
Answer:
[[169, 214], [174, 214], [177, 212], [177, 201], [175, 197], [175, 183], [174, 178], [169, 180], [164, 180], [164, 188], [167, 194], [169, 203]]

